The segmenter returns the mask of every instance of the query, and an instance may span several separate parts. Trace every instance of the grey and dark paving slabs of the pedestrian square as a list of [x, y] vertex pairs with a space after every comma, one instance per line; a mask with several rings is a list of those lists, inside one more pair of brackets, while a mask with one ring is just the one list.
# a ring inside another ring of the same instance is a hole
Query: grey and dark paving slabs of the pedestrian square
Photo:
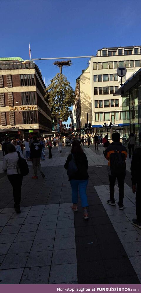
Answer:
[[[84, 147], [88, 158], [89, 215], [71, 210], [71, 187], [63, 165], [70, 148], [42, 161], [37, 180], [22, 185], [21, 214], [13, 208], [12, 189], [2, 173], [0, 153], [1, 284], [140, 284], [141, 230], [132, 225], [135, 195], [127, 159], [124, 210], [107, 205], [109, 185], [103, 148]], [[45, 150], [47, 156], [48, 150]], [[118, 202], [116, 182], [115, 200]]]

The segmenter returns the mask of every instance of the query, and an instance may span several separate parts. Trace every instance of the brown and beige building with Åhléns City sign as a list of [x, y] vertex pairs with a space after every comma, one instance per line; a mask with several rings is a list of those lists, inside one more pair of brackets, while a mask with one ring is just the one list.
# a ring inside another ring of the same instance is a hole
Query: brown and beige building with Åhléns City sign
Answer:
[[[51, 108], [38, 66], [20, 57], [0, 58], [0, 135], [50, 134]], [[29, 132], [30, 131], [30, 132]]]

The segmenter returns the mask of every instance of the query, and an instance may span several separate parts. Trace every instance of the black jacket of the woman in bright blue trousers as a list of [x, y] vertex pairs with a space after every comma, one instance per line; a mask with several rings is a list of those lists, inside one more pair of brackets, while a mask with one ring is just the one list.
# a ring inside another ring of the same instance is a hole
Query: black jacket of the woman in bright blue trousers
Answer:
[[[73, 176], [69, 176], [68, 180], [71, 180], [71, 179], [86, 180], [86, 179], [88, 179], [89, 178], [89, 175], [87, 172], [88, 171], [88, 160], [87, 160], [85, 153], [80, 153], [77, 155], [73, 154], [73, 156], [75, 158], [75, 163], [76, 163], [78, 171]], [[69, 154], [68, 158], [66, 160], [66, 163], [64, 165], [64, 168], [66, 170], [68, 170], [68, 164], [71, 161], [71, 159], [72, 159], [72, 155]]]

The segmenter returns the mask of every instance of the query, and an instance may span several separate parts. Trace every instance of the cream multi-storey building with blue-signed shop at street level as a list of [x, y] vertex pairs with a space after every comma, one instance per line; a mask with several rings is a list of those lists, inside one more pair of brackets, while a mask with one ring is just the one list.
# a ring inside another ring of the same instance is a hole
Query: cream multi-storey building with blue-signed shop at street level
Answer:
[[[127, 73], [122, 78], [117, 75], [118, 67], [126, 67]], [[122, 97], [113, 96], [121, 82], [128, 80], [141, 66], [141, 46], [102, 48], [97, 55], [90, 58], [89, 67], [76, 80], [75, 111], [77, 127], [87, 122], [93, 133], [111, 136], [112, 132], [119, 132], [121, 137], [130, 133], [129, 111], [122, 110]], [[77, 85], [78, 84], [78, 85]], [[108, 125], [105, 129], [104, 123]]]

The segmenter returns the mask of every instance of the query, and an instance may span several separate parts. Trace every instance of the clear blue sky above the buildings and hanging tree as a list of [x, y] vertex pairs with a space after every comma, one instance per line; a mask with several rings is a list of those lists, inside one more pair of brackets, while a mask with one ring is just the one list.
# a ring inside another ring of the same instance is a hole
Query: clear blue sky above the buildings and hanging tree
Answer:
[[[140, 0], [0, 1], [0, 57], [31, 58], [95, 55], [99, 48], [141, 45]], [[75, 80], [88, 58], [72, 59], [63, 69]], [[37, 61], [49, 84], [58, 72], [53, 60]]]

